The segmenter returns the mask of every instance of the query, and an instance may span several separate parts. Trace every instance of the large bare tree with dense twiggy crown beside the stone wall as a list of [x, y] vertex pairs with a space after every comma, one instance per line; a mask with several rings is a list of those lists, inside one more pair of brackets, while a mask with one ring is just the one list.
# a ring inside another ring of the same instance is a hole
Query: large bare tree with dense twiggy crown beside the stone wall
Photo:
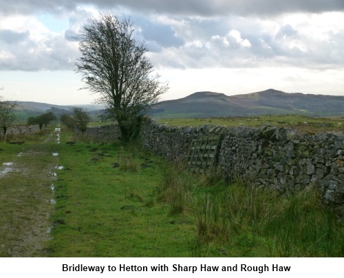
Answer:
[[97, 102], [107, 104], [110, 117], [118, 121], [123, 141], [129, 141], [149, 110], [168, 89], [167, 83], [153, 74], [145, 56], [144, 42], [133, 38], [133, 23], [113, 14], [89, 19], [80, 34], [81, 57], [76, 62], [85, 87], [100, 95]]

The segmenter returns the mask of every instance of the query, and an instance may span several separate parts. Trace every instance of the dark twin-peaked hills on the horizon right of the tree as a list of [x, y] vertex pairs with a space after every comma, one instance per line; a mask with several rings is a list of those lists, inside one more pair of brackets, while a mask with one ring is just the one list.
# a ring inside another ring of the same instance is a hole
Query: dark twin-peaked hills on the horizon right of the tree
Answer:
[[203, 91], [178, 100], [160, 102], [153, 117], [225, 117], [249, 115], [304, 114], [344, 115], [344, 96], [284, 93], [274, 89], [228, 96]]

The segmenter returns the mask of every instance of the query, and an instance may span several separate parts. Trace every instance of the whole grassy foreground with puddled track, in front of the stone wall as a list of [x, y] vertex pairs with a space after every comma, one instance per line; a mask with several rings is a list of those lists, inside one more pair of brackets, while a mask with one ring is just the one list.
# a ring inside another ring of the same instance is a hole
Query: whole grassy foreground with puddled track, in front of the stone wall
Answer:
[[343, 222], [313, 189], [281, 196], [195, 176], [63, 127], [21, 141], [0, 143], [1, 257], [344, 255]]

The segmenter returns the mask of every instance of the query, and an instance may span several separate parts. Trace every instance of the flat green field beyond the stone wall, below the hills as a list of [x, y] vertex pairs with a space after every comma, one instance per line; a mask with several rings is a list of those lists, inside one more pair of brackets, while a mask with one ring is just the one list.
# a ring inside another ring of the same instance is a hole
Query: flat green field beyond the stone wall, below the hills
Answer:
[[169, 126], [201, 126], [213, 124], [219, 126], [259, 127], [270, 124], [278, 127], [297, 128], [301, 132], [344, 132], [344, 117], [308, 117], [304, 115], [261, 115], [255, 117], [214, 117], [214, 118], [175, 118], [157, 119], [160, 124]]

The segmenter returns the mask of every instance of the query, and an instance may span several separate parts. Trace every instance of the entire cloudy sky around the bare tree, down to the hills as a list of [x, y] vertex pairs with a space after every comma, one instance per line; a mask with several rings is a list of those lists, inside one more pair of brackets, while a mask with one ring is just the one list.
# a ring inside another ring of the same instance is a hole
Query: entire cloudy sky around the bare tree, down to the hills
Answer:
[[75, 73], [87, 19], [130, 16], [169, 91], [277, 89], [344, 95], [344, 0], [17, 0], [0, 2], [0, 95], [91, 104]]

